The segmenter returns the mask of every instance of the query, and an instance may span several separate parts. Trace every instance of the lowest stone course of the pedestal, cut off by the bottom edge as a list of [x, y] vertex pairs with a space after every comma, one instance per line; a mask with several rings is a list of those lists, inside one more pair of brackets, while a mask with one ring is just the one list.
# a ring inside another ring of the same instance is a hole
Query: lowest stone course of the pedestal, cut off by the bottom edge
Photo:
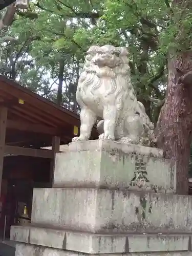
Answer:
[[[113, 256], [191, 256], [191, 251], [173, 251], [173, 252], [146, 252], [146, 253], [114, 253]], [[15, 256], [86, 256], [82, 252], [75, 252], [75, 251], [64, 251], [54, 248], [48, 248], [44, 246], [35, 246], [29, 244], [17, 244], [16, 245], [16, 252]], [[98, 254], [90, 254], [90, 255], [97, 255]], [[109, 253], [102, 254], [101, 256], [111, 256]]]

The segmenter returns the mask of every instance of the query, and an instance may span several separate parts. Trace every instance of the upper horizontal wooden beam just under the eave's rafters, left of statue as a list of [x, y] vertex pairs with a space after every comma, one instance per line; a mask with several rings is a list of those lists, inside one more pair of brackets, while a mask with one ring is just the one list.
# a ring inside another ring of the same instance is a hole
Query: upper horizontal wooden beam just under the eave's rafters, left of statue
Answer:
[[25, 132], [57, 135], [56, 128], [48, 127], [42, 124], [34, 124], [34, 123], [14, 121], [14, 120], [7, 120], [7, 128], [12, 130], [25, 131]]

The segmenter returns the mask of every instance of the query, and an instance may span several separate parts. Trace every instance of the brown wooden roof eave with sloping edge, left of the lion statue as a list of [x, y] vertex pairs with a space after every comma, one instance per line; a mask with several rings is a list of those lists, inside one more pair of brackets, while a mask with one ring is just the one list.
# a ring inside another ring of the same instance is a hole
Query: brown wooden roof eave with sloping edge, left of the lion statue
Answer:
[[[38, 139], [37, 135], [44, 135], [45, 137], [46, 135], [59, 136], [61, 141], [70, 142], [74, 136], [73, 127], [80, 127], [79, 115], [3, 76], [0, 76], [1, 105], [8, 108], [6, 132], [8, 143], [14, 142], [11, 137], [15, 137], [15, 130], [17, 131], [17, 137], [21, 137], [20, 139], [29, 137], [30, 133], [36, 134], [36, 139], [32, 138], [33, 136], [31, 137], [33, 142]], [[97, 136], [94, 127], [92, 138], [96, 139]]]

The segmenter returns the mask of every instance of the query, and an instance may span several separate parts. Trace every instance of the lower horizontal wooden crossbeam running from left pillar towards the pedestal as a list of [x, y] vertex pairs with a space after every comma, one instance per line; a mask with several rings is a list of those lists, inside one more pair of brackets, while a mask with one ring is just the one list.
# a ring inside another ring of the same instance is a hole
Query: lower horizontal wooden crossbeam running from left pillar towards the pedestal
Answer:
[[5, 145], [5, 154], [20, 155], [29, 157], [42, 157], [53, 159], [53, 152], [51, 150], [37, 150], [36, 148], [8, 146]]

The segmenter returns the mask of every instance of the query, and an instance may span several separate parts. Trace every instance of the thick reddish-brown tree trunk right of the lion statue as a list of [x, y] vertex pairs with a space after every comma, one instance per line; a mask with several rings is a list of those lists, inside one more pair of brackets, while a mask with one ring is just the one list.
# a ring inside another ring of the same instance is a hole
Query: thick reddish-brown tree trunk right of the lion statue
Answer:
[[157, 146], [165, 158], [176, 160], [177, 193], [188, 194], [188, 170], [192, 131], [192, 52], [168, 61], [168, 87], [156, 126]]

